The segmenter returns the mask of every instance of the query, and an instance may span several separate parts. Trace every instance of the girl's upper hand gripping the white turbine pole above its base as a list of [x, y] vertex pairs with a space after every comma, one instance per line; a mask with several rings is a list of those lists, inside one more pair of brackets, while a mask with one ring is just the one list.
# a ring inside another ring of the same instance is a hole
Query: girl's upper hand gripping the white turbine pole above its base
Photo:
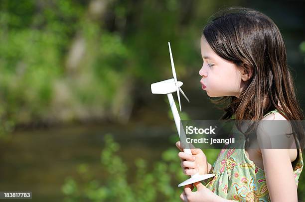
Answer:
[[178, 156], [181, 160], [181, 167], [185, 175], [194, 175], [199, 172], [200, 175], [207, 174], [208, 171], [208, 162], [205, 154], [199, 148], [191, 149], [192, 155], [183, 152], [183, 147], [181, 142], [177, 141], [176, 146], [181, 151], [178, 153]]

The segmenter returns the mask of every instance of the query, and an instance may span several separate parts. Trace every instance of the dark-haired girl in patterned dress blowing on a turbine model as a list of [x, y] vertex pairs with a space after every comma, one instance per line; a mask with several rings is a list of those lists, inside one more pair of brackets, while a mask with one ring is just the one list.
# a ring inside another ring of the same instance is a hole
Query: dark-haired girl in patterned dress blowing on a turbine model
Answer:
[[[221, 97], [218, 103], [229, 101], [222, 120], [304, 119], [284, 40], [269, 17], [248, 8], [229, 8], [205, 26], [200, 43], [202, 89], [209, 97]], [[297, 202], [303, 135], [294, 135], [296, 141], [288, 149], [222, 149], [213, 166], [201, 149], [188, 155], [176, 142], [184, 174], [215, 174], [205, 186], [194, 183], [196, 192], [193, 185], [185, 186], [180, 199]]]

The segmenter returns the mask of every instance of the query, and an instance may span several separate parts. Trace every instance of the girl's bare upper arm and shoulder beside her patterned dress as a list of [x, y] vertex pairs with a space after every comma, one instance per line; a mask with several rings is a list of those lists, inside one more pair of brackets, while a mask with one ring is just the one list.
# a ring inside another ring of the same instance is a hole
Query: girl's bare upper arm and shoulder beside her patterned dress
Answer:
[[[289, 139], [284, 139], [285, 135], [291, 133], [290, 125], [281, 114], [270, 114], [264, 118], [269, 122], [262, 123], [258, 127], [258, 140], [260, 146], [264, 143], [273, 140], [282, 139], [283, 142], [289, 142]], [[282, 120], [274, 127], [272, 120]], [[271, 121], [271, 122], [270, 122]], [[261, 153], [266, 174], [266, 182], [269, 191], [269, 196], [272, 202], [297, 202], [298, 193], [295, 182], [294, 170], [291, 164], [289, 155], [289, 144], [284, 149], [275, 149], [272, 147], [261, 147]]]

